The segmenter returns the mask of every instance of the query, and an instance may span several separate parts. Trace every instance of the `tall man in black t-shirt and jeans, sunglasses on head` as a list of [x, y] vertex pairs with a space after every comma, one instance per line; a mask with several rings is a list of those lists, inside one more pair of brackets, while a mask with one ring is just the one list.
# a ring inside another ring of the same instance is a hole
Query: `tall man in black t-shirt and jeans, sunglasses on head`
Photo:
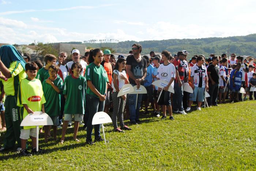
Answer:
[[[140, 53], [142, 51], [142, 46], [140, 44], [132, 45], [133, 55], [129, 55], [126, 58], [126, 72], [129, 76], [129, 82], [132, 86], [140, 84], [143, 85], [143, 81], [147, 76], [147, 61], [144, 59]], [[142, 100], [142, 94], [138, 94], [137, 108], [136, 106], [136, 94], [128, 94], [130, 121], [132, 124], [137, 124], [139, 122], [139, 108]]]

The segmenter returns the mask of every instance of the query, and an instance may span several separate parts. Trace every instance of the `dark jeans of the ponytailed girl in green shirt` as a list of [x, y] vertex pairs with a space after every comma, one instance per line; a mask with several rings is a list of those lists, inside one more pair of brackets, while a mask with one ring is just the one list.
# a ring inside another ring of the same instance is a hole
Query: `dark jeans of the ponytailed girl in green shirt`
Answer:
[[[87, 123], [87, 135], [86, 135], [86, 141], [92, 141], [91, 134], [93, 131], [93, 125], [91, 122], [93, 121], [93, 116], [97, 112], [102, 112], [104, 110], [105, 101], [101, 102], [99, 101], [99, 98], [93, 96], [93, 95], [86, 95], [86, 105], [89, 109], [89, 117], [88, 117], [88, 123]], [[94, 125], [94, 136], [95, 139], [101, 138], [101, 132], [99, 130], [100, 124]]]

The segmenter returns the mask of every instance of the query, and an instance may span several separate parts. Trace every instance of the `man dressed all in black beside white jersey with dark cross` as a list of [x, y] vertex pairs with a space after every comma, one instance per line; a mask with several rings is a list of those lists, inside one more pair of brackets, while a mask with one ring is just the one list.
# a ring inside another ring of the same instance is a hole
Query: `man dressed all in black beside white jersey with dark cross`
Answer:
[[207, 99], [208, 105], [218, 106], [217, 104], [217, 96], [219, 91], [219, 69], [217, 68], [217, 64], [219, 63], [219, 59], [217, 56], [212, 57], [212, 64], [207, 67], [207, 75], [208, 75], [208, 84], [209, 84], [209, 95], [210, 97]]

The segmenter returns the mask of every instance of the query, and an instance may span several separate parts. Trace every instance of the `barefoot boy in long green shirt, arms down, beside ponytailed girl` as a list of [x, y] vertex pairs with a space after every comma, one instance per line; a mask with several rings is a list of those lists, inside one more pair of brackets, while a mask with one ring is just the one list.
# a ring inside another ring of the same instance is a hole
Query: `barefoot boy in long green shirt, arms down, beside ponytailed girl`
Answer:
[[74, 115], [74, 137], [73, 139], [80, 142], [76, 138], [79, 122], [83, 121], [85, 94], [86, 94], [86, 79], [80, 75], [83, 67], [79, 62], [74, 62], [71, 66], [72, 74], [67, 76], [64, 81], [63, 94], [66, 102], [64, 107], [64, 122], [62, 126], [62, 135], [60, 143], [64, 143], [65, 134], [68, 127], [68, 121], [71, 121]]

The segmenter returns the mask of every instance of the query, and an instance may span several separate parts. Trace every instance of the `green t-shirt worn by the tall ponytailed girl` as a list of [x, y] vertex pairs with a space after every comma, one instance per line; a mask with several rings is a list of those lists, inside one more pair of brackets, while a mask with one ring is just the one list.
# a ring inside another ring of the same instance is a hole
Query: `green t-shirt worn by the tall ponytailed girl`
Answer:
[[[106, 93], [106, 83], [109, 82], [109, 79], [107, 72], [102, 65], [97, 66], [94, 63], [90, 63], [90, 65], [88, 65], [86, 68], [85, 75], [86, 80], [90, 80], [100, 94], [103, 95]], [[93, 91], [91, 91], [89, 87], [87, 94], [98, 98], [98, 96]]]

